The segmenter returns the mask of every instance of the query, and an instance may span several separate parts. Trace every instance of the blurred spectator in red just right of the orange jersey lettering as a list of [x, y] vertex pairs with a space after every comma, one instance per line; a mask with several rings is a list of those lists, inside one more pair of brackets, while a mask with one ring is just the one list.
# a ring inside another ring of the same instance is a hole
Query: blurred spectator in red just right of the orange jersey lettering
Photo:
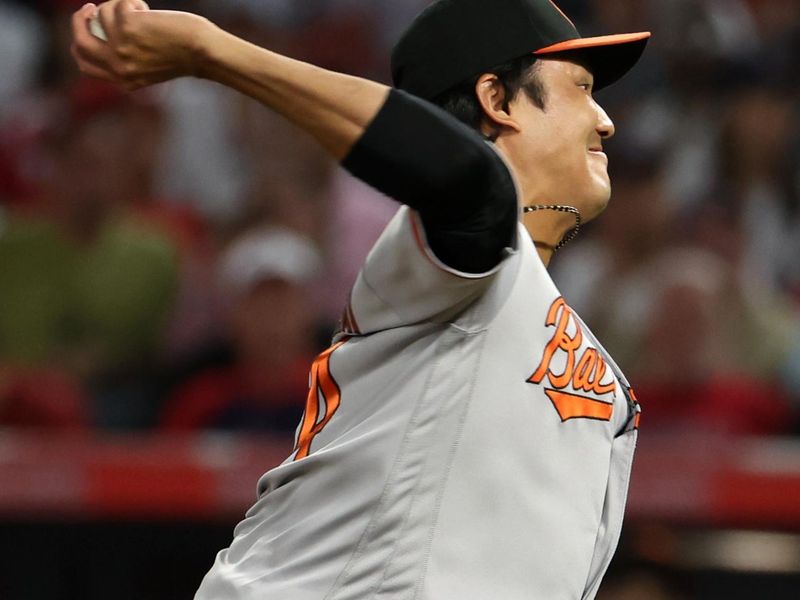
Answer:
[[640, 340], [631, 368], [640, 380], [637, 393], [647, 399], [650, 423], [659, 430], [706, 433], [786, 431], [788, 406], [770, 383], [774, 373], [756, 371], [770, 351], [762, 339], [770, 332], [748, 323], [725, 269], [699, 250], [683, 256], [673, 251], [651, 269], [650, 289], [639, 290], [652, 294], [639, 298], [647, 313], [639, 322], [641, 336], [631, 336]]

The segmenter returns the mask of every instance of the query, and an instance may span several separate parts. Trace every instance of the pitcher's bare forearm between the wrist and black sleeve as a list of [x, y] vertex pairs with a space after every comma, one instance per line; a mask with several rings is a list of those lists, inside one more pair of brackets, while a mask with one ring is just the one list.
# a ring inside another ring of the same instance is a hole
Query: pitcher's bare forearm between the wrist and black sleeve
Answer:
[[197, 74], [254, 98], [343, 159], [380, 110], [389, 88], [270, 52], [207, 27]]

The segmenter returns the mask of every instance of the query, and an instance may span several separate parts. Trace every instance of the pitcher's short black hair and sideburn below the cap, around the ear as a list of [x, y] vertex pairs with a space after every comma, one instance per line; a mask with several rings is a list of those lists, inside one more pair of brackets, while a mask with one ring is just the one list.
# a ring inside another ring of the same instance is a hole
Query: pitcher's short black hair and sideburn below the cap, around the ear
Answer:
[[[508, 103], [514, 100], [520, 91], [523, 91], [531, 102], [544, 110], [545, 90], [537, 76], [538, 64], [533, 54], [520, 56], [491, 69], [485, 69], [479, 75], [454, 85], [433, 98], [431, 102], [449, 112], [462, 123], [480, 131], [484, 113], [478, 96], [475, 94], [475, 85], [481, 75], [492, 73], [497, 75], [500, 85], [506, 91], [506, 100], [503, 105], [506, 110], [508, 110]], [[499, 132], [496, 132], [488, 139], [493, 142], [498, 135]]]

